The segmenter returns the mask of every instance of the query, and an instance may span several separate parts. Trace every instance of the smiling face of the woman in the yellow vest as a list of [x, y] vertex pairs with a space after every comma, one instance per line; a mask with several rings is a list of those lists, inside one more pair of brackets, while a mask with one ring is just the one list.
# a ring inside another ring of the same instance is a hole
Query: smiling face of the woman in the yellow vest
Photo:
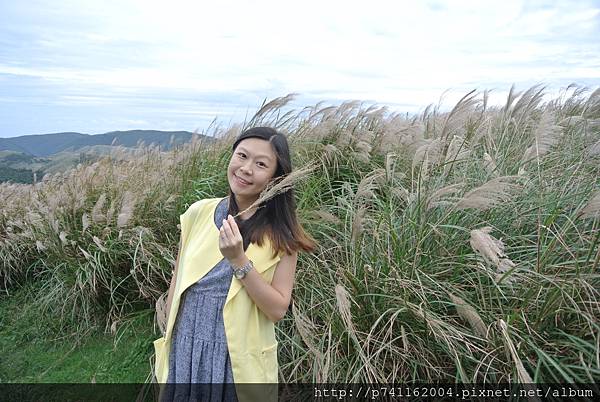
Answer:
[[245, 138], [233, 151], [227, 168], [227, 180], [236, 196], [247, 200], [256, 199], [276, 170], [277, 157], [269, 141]]

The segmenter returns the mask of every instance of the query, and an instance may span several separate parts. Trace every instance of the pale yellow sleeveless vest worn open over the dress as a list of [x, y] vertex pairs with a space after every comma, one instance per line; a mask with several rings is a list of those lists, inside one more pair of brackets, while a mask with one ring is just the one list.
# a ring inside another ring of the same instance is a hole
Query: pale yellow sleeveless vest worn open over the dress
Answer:
[[[179, 255], [175, 291], [165, 335], [154, 341], [155, 375], [157, 382], [161, 384], [161, 394], [164, 389], [163, 384], [168, 378], [171, 333], [177, 317], [180, 297], [188, 286], [196, 283], [223, 259], [219, 249], [219, 230], [214, 223], [214, 213], [222, 199], [210, 198], [196, 201], [180, 216], [182, 249]], [[272, 258], [271, 243], [266, 240], [266, 244], [262, 247], [250, 243], [246, 255], [267, 283], [271, 283], [281, 254]], [[277, 383], [279, 367], [274, 323], [256, 306], [242, 282], [235, 276], [231, 279], [223, 306], [223, 322], [238, 399], [240, 401], [270, 399], [269, 395], [264, 395], [264, 391], [261, 395], [251, 395], [251, 390], [255, 388], [240, 388], [237, 385]], [[273, 387], [269, 389], [273, 390]], [[276, 398], [276, 395], [271, 397]]]

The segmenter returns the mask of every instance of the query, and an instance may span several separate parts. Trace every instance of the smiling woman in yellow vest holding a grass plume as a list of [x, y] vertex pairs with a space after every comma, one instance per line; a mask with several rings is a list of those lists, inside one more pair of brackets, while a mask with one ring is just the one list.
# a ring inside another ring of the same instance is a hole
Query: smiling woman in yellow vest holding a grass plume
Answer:
[[293, 190], [233, 216], [291, 171], [286, 137], [251, 128], [233, 144], [229, 195], [197, 201], [181, 215], [167, 329], [154, 342], [157, 380], [169, 383], [161, 400], [265, 400], [267, 391], [276, 398], [276, 386], [240, 384], [277, 383], [274, 323], [290, 304], [298, 251], [316, 244], [298, 224]]

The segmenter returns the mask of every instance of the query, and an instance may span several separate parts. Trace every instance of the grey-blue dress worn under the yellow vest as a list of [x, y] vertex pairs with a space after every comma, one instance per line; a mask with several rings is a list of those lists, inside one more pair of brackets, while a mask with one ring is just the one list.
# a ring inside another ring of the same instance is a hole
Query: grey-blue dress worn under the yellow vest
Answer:
[[[228, 198], [215, 211], [218, 229], [227, 217]], [[232, 276], [231, 265], [223, 258], [183, 292], [163, 401], [237, 401], [223, 324]]]

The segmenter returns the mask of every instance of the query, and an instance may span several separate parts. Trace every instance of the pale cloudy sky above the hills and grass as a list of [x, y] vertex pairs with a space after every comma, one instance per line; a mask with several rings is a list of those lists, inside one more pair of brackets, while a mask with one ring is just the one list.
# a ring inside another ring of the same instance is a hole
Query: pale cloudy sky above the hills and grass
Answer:
[[0, 137], [600, 86], [600, 1], [0, 0]]

